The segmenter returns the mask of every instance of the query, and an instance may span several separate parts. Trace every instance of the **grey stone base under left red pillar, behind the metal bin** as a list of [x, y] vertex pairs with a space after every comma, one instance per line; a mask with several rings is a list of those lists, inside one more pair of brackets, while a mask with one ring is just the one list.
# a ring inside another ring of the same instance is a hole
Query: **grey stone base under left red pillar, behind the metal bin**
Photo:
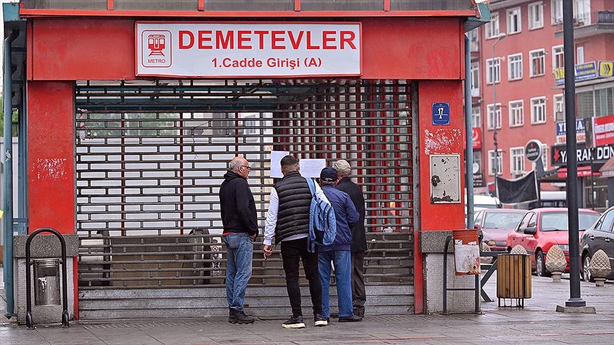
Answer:
[[[66, 266], [66, 279], [68, 284], [68, 314], [70, 319], [74, 318], [74, 282], [72, 257], [68, 258], [68, 266]], [[32, 282], [32, 317], [34, 325], [36, 324], [53, 324], [62, 321], [62, 305], [58, 306], [37, 306], [34, 302], [34, 269], [30, 269], [30, 278]], [[62, 279], [62, 271], [60, 265], [60, 282]], [[26, 324], [26, 259], [15, 259], [15, 307], [17, 311], [17, 323], [20, 325]], [[60, 303], [62, 287], [60, 285]]]

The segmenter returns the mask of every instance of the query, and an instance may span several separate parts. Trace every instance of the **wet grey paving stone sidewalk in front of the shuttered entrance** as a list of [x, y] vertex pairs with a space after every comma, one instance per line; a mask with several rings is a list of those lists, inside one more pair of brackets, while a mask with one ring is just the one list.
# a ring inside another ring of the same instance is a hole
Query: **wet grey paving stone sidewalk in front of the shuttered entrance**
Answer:
[[[495, 297], [494, 278], [485, 287]], [[280, 319], [230, 325], [225, 319], [116, 320], [72, 322], [70, 328], [38, 325], [26, 330], [0, 325], [0, 344], [613, 344], [614, 284], [582, 283], [582, 297], [597, 314], [561, 314], [569, 281], [554, 284], [533, 277], [533, 298], [524, 310], [482, 303], [483, 314], [367, 316], [363, 322], [300, 330], [281, 328]]]

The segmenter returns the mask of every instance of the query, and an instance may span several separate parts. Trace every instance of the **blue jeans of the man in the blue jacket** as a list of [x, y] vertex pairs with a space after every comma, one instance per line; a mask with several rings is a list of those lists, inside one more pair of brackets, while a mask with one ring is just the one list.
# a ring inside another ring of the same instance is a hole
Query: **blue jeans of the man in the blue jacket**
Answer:
[[317, 271], [322, 282], [322, 316], [330, 317], [330, 262], [335, 265], [335, 281], [339, 300], [339, 317], [352, 316], [352, 265], [349, 250], [319, 252]]

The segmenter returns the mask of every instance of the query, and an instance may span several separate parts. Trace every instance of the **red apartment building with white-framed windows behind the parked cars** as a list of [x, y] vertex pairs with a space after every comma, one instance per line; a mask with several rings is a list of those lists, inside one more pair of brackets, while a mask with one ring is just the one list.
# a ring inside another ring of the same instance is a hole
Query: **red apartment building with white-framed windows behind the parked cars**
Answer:
[[[577, 118], [591, 122], [593, 117], [614, 114], [614, 82], [608, 71], [614, 60], [614, 2], [574, 0], [573, 7]], [[524, 146], [531, 139], [543, 144], [545, 171], [557, 169], [543, 179], [547, 183], [541, 184], [542, 190], [563, 190], [562, 1], [492, 1], [491, 10], [490, 23], [470, 33], [474, 138], [480, 138], [473, 155], [480, 166], [476, 192], [494, 192], [495, 170], [512, 179], [534, 169], [524, 157]], [[604, 121], [610, 122], [597, 123]], [[578, 147], [583, 148], [584, 124], [578, 126]], [[607, 146], [606, 154], [597, 159], [594, 152], [595, 166], [581, 175], [580, 200], [586, 207], [613, 203], [611, 197], [608, 201], [605, 181], [593, 175], [599, 174], [599, 163], [610, 155], [614, 138], [608, 135], [599, 144]], [[578, 164], [590, 166], [591, 161]]]

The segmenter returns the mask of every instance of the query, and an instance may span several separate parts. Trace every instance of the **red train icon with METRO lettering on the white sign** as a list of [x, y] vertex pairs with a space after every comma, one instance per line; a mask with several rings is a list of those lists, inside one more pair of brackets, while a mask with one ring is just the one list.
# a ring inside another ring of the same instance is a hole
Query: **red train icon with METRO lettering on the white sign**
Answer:
[[141, 65], [143, 67], [170, 67], [173, 63], [171, 52], [171, 31], [144, 30], [141, 33]]

